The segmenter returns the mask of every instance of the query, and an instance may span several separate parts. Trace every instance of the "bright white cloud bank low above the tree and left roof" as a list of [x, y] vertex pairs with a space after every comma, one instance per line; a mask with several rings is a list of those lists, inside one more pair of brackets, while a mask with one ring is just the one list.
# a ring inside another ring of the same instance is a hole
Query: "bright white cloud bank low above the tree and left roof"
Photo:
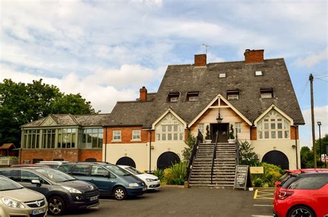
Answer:
[[[60, 78], [37, 76], [17, 72], [15, 68], [0, 64], [0, 80], [12, 79], [15, 82], [31, 83], [42, 79], [44, 83], [55, 85], [66, 94], [80, 93], [86, 101], [91, 101], [92, 107], [98, 111], [111, 112], [117, 101], [131, 101], [139, 96], [139, 88], [154, 79], [161, 77], [164, 68], [150, 70], [140, 65], [123, 65], [120, 70], [100, 69], [94, 74], [80, 78], [71, 72]], [[125, 86], [125, 79], [133, 85]]]

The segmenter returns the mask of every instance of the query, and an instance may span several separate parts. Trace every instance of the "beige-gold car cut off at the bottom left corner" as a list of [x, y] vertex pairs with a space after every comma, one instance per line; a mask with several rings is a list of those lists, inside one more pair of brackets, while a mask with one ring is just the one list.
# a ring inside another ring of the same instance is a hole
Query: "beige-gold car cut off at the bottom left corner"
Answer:
[[26, 189], [10, 178], [0, 176], [0, 216], [46, 216], [44, 195]]

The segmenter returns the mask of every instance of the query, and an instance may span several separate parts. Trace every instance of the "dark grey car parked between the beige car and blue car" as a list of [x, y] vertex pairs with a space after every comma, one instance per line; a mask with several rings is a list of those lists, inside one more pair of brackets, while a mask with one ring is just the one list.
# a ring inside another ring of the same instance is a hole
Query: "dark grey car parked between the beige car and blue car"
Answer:
[[50, 167], [10, 167], [0, 175], [17, 181], [28, 189], [44, 194], [51, 215], [66, 209], [86, 209], [99, 204], [98, 188]]

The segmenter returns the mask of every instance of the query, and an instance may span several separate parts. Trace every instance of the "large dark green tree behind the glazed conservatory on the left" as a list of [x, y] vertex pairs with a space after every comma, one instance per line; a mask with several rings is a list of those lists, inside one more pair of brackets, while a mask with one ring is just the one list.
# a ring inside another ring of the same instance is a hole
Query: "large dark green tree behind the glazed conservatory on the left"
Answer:
[[0, 83], [0, 144], [15, 143], [19, 147], [20, 126], [48, 114], [93, 114], [95, 111], [80, 94], [65, 95], [54, 85], [39, 81]]

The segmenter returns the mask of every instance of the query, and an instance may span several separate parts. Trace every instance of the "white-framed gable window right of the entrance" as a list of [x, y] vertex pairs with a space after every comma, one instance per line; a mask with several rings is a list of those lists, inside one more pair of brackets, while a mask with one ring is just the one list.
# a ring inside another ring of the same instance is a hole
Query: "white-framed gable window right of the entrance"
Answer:
[[[281, 136], [280, 136], [281, 135]], [[267, 137], [267, 138], [266, 138]], [[277, 111], [271, 110], [257, 122], [257, 139], [290, 139], [291, 123]]]

